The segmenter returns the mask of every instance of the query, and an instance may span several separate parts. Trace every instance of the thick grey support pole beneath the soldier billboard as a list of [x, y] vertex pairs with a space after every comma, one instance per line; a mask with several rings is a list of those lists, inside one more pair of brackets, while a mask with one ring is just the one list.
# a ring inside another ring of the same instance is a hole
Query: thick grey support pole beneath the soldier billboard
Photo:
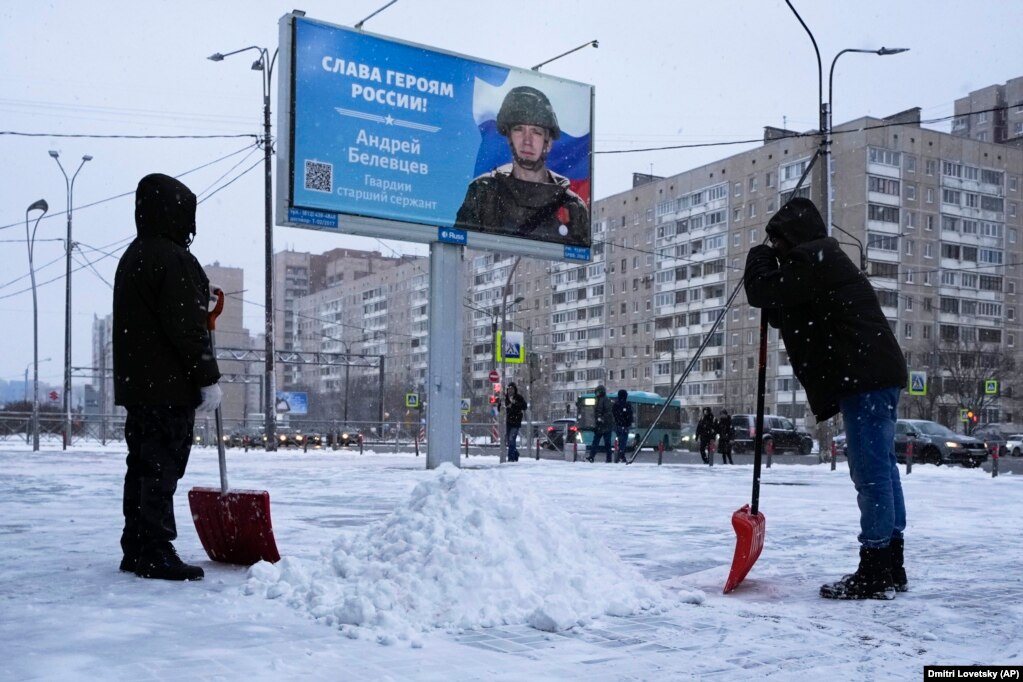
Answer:
[[461, 246], [430, 244], [430, 362], [427, 468], [459, 466], [461, 433]]

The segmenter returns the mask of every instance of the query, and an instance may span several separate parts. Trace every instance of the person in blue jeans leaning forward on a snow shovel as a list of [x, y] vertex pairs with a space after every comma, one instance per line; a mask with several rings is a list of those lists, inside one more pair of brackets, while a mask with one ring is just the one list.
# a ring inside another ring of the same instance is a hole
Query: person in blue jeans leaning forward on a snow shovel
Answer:
[[894, 447], [905, 358], [866, 275], [828, 236], [809, 199], [783, 206], [766, 231], [770, 244], [746, 259], [747, 300], [781, 330], [817, 422], [842, 413], [859, 505], [859, 566], [822, 585], [820, 596], [892, 599], [908, 587]]

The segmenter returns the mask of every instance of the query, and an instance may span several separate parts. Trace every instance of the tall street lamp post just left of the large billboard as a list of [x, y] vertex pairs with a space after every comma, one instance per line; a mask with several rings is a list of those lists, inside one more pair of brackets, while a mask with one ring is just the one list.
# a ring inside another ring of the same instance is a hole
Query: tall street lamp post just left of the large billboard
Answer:
[[274, 371], [274, 338], [273, 338], [273, 184], [270, 170], [270, 155], [272, 153], [272, 139], [270, 137], [270, 86], [273, 78], [273, 64], [277, 60], [277, 50], [273, 51], [273, 56], [265, 47], [251, 45], [242, 47], [233, 52], [221, 54], [217, 52], [208, 58], [211, 61], [223, 61], [224, 57], [232, 54], [256, 50], [259, 52], [259, 59], [253, 62], [252, 70], [263, 74], [263, 184], [264, 184], [264, 232], [265, 232], [265, 283], [266, 283], [266, 378], [264, 383], [266, 390], [263, 392], [263, 411], [266, 426], [266, 449], [275, 450], [277, 439], [277, 415], [274, 399], [276, 392], [276, 375]]

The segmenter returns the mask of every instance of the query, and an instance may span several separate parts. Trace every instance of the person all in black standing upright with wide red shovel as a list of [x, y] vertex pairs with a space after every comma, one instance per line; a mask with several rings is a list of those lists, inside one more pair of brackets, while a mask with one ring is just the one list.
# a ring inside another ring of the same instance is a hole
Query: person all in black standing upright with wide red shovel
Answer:
[[222, 396], [207, 311], [210, 280], [188, 245], [195, 195], [166, 175], [142, 178], [135, 191], [138, 236], [114, 278], [114, 402], [124, 406], [125, 473], [121, 570], [140, 578], [202, 580], [182, 561], [174, 493], [185, 473], [195, 411]]

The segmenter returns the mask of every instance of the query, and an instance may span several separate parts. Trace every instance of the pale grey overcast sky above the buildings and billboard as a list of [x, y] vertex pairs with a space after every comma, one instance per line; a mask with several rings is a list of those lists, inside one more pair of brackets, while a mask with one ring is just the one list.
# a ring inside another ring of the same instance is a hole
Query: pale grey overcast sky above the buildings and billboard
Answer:
[[[925, 120], [948, 117], [955, 98], [970, 90], [1023, 76], [1023, 5], [1018, 0], [792, 2], [820, 50], [826, 98], [829, 67], [840, 50], [910, 48], [887, 57], [842, 57], [835, 73], [836, 124], [913, 106], [922, 108]], [[272, 51], [277, 20], [292, 9], [351, 27], [384, 4], [51, 0], [0, 5], [0, 327], [5, 331], [0, 378], [21, 378], [32, 362], [25, 210], [45, 198], [50, 212], [39, 224], [35, 265], [39, 355], [52, 360], [40, 366], [40, 378], [61, 382], [68, 197], [50, 149], [60, 152], [69, 176], [83, 154], [94, 157], [74, 187], [74, 241], [81, 248], [73, 265], [75, 366], [91, 365], [92, 319], [110, 311], [117, 257], [134, 236], [132, 195], [138, 179], [151, 172], [181, 176], [199, 195], [192, 251], [203, 263], [246, 269], [244, 295], [252, 302], [246, 320], [259, 326], [263, 178], [262, 151], [254, 143], [262, 133], [260, 74], [250, 70], [254, 52], [219, 63], [206, 57], [250, 45]], [[543, 67], [595, 86], [597, 199], [627, 189], [633, 172], [672, 175], [755, 144], [612, 152], [758, 140], [767, 125], [795, 130], [817, 125], [813, 46], [784, 0], [636, 0], [627, 5], [399, 0], [364, 29], [524, 69], [598, 40], [597, 49], [587, 47]], [[276, 117], [275, 93], [273, 109]], [[948, 129], [947, 124], [935, 127]], [[117, 135], [224, 137], [109, 137]], [[276, 228], [274, 240], [276, 249], [315, 253], [337, 246], [427, 252], [410, 242], [284, 227]]]

